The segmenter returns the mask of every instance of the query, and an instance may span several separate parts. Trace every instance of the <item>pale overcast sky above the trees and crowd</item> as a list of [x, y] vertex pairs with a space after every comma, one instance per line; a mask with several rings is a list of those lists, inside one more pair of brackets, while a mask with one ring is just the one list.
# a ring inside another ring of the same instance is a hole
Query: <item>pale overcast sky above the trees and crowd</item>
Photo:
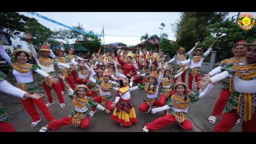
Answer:
[[[241, 14], [243, 13], [241, 12]], [[50, 30], [66, 29], [66, 27], [48, 22], [26, 12], [19, 12], [19, 14], [36, 18], [38, 22], [50, 28]], [[128, 46], [140, 43], [142, 35], [159, 35], [159, 27], [162, 27], [162, 22], [166, 25], [163, 32], [168, 34], [168, 39], [176, 40], [171, 25], [177, 22], [181, 15], [179, 12], [38, 12], [38, 14], [67, 26], [78, 26], [78, 23], [80, 23], [85, 30], [93, 30], [96, 34], [100, 34], [104, 26], [105, 44], [122, 42]], [[236, 14], [238, 12], [232, 12], [230, 16]], [[254, 18], [256, 17], [256, 13], [251, 14], [254, 15]]]

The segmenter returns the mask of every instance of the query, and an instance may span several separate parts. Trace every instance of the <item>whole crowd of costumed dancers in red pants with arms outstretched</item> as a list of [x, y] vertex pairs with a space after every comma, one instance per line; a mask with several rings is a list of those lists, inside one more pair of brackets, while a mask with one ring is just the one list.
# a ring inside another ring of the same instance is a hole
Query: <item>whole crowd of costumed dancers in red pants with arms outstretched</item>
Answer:
[[[138, 110], [152, 114], [164, 112], [164, 116], [146, 123], [142, 131], [159, 130], [174, 122], [178, 122], [184, 130], [192, 130], [188, 116], [190, 104], [209, 94], [216, 82], [222, 79], [220, 97], [208, 118], [214, 124], [224, 112], [214, 131], [229, 131], [239, 118], [242, 119], [243, 131], [256, 131], [256, 41], [249, 44], [246, 41], [237, 42], [230, 49], [233, 58], [223, 60], [218, 67], [200, 78], [200, 67], [213, 50], [214, 42], [206, 52], [198, 48], [199, 42], [188, 52], [180, 46], [178, 53], [168, 62], [162, 51], [154, 53], [147, 50], [138, 50], [136, 54], [118, 50], [112, 54], [92, 54], [91, 58], [84, 59], [74, 54], [73, 48], [68, 50], [68, 54], [63, 48], [53, 52], [48, 42], [37, 51], [32, 44], [32, 34], [26, 34], [26, 39], [30, 51], [14, 50], [12, 58], [6, 54], [0, 39], [0, 54], [13, 67], [17, 81], [16, 86], [12, 86], [1, 72], [0, 89], [21, 98], [22, 106], [32, 118], [31, 126], [41, 122], [36, 106], [42, 111], [48, 123], [42, 126], [40, 132], [58, 130], [67, 125], [86, 128], [98, 110], [112, 113], [110, 118], [120, 126], [132, 126], [138, 122], [130, 93], [133, 90], [146, 92], [146, 98]], [[193, 57], [188, 58], [191, 53], [194, 53]], [[32, 57], [36, 65], [28, 63]], [[177, 66], [173, 64], [174, 61]], [[187, 69], [188, 86], [185, 82]], [[46, 103], [43, 100], [45, 95], [40, 94], [38, 83], [34, 81], [34, 72], [42, 75], [42, 86], [48, 99]], [[181, 82], [177, 82], [179, 76], [182, 76]], [[194, 91], [193, 78], [197, 86]], [[202, 86], [206, 86], [206, 89], [202, 90]], [[48, 108], [54, 105], [51, 88], [58, 95], [61, 108], [66, 106], [62, 96], [66, 91], [74, 104], [74, 110], [64, 118], [55, 119]], [[115, 90], [115, 94], [111, 94], [111, 90]], [[1, 104], [0, 131], [15, 131]]]

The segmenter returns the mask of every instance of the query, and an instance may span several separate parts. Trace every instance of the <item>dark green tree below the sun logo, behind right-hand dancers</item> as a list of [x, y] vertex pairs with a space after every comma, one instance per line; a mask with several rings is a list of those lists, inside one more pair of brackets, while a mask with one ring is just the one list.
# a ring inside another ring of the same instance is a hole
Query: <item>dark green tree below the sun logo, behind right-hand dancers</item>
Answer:
[[202, 46], [210, 46], [210, 42], [214, 39], [216, 41], [214, 49], [218, 50], [216, 62], [221, 62], [223, 59], [233, 57], [232, 47], [240, 40], [246, 40], [247, 42], [253, 42], [256, 38], [256, 30], [242, 30], [238, 26], [235, 18], [228, 18], [226, 20], [215, 22], [214, 24], [207, 26], [209, 37], [202, 42]]

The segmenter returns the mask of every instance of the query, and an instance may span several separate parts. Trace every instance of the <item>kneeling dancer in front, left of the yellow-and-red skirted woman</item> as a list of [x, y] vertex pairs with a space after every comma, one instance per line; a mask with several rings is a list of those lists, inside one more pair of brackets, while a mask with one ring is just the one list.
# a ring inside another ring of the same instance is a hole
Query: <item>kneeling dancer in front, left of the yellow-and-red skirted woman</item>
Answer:
[[59, 127], [68, 126], [71, 124], [75, 127], [89, 127], [90, 118], [87, 106], [96, 106], [98, 110], [104, 110], [106, 113], [110, 113], [110, 110], [95, 102], [93, 98], [86, 96], [86, 94], [90, 93], [90, 90], [87, 86], [78, 85], [74, 90], [72, 90], [69, 84], [65, 82], [65, 77], [63, 75], [59, 75], [58, 78], [62, 80], [66, 86], [66, 89], [69, 90], [70, 98], [74, 103], [74, 110], [72, 110], [68, 116], [54, 120], [53, 122], [50, 122], [50, 124], [43, 126], [39, 132], [46, 132], [49, 128], [50, 130], [57, 130]]

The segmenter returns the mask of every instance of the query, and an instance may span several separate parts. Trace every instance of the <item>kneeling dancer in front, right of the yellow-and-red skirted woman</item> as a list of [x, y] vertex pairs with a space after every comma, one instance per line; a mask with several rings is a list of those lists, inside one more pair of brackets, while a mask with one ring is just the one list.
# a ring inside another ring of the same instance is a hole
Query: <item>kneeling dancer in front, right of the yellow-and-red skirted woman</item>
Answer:
[[165, 114], [163, 117], [160, 117], [153, 122], [147, 123], [142, 130], [144, 132], [148, 132], [149, 130], [159, 130], [174, 122], [178, 122], [179, 126], [184, 130], [192, 130], [192, 123], [187, 115], [190, 103], [197, 102], [199, 98], [206, 96], [213, 87], [213, 85], [208, 85], [206, 90], [203, 90], [202, 93], [191, 92], [190, 94], [187, 94], [186, 83], [177, 82], [174, 86], [176, 94], [169, 98], [165, 106], [154, 108], [151, 111], [155, 114], [159, 111], [170, 109], [170, 113]]

